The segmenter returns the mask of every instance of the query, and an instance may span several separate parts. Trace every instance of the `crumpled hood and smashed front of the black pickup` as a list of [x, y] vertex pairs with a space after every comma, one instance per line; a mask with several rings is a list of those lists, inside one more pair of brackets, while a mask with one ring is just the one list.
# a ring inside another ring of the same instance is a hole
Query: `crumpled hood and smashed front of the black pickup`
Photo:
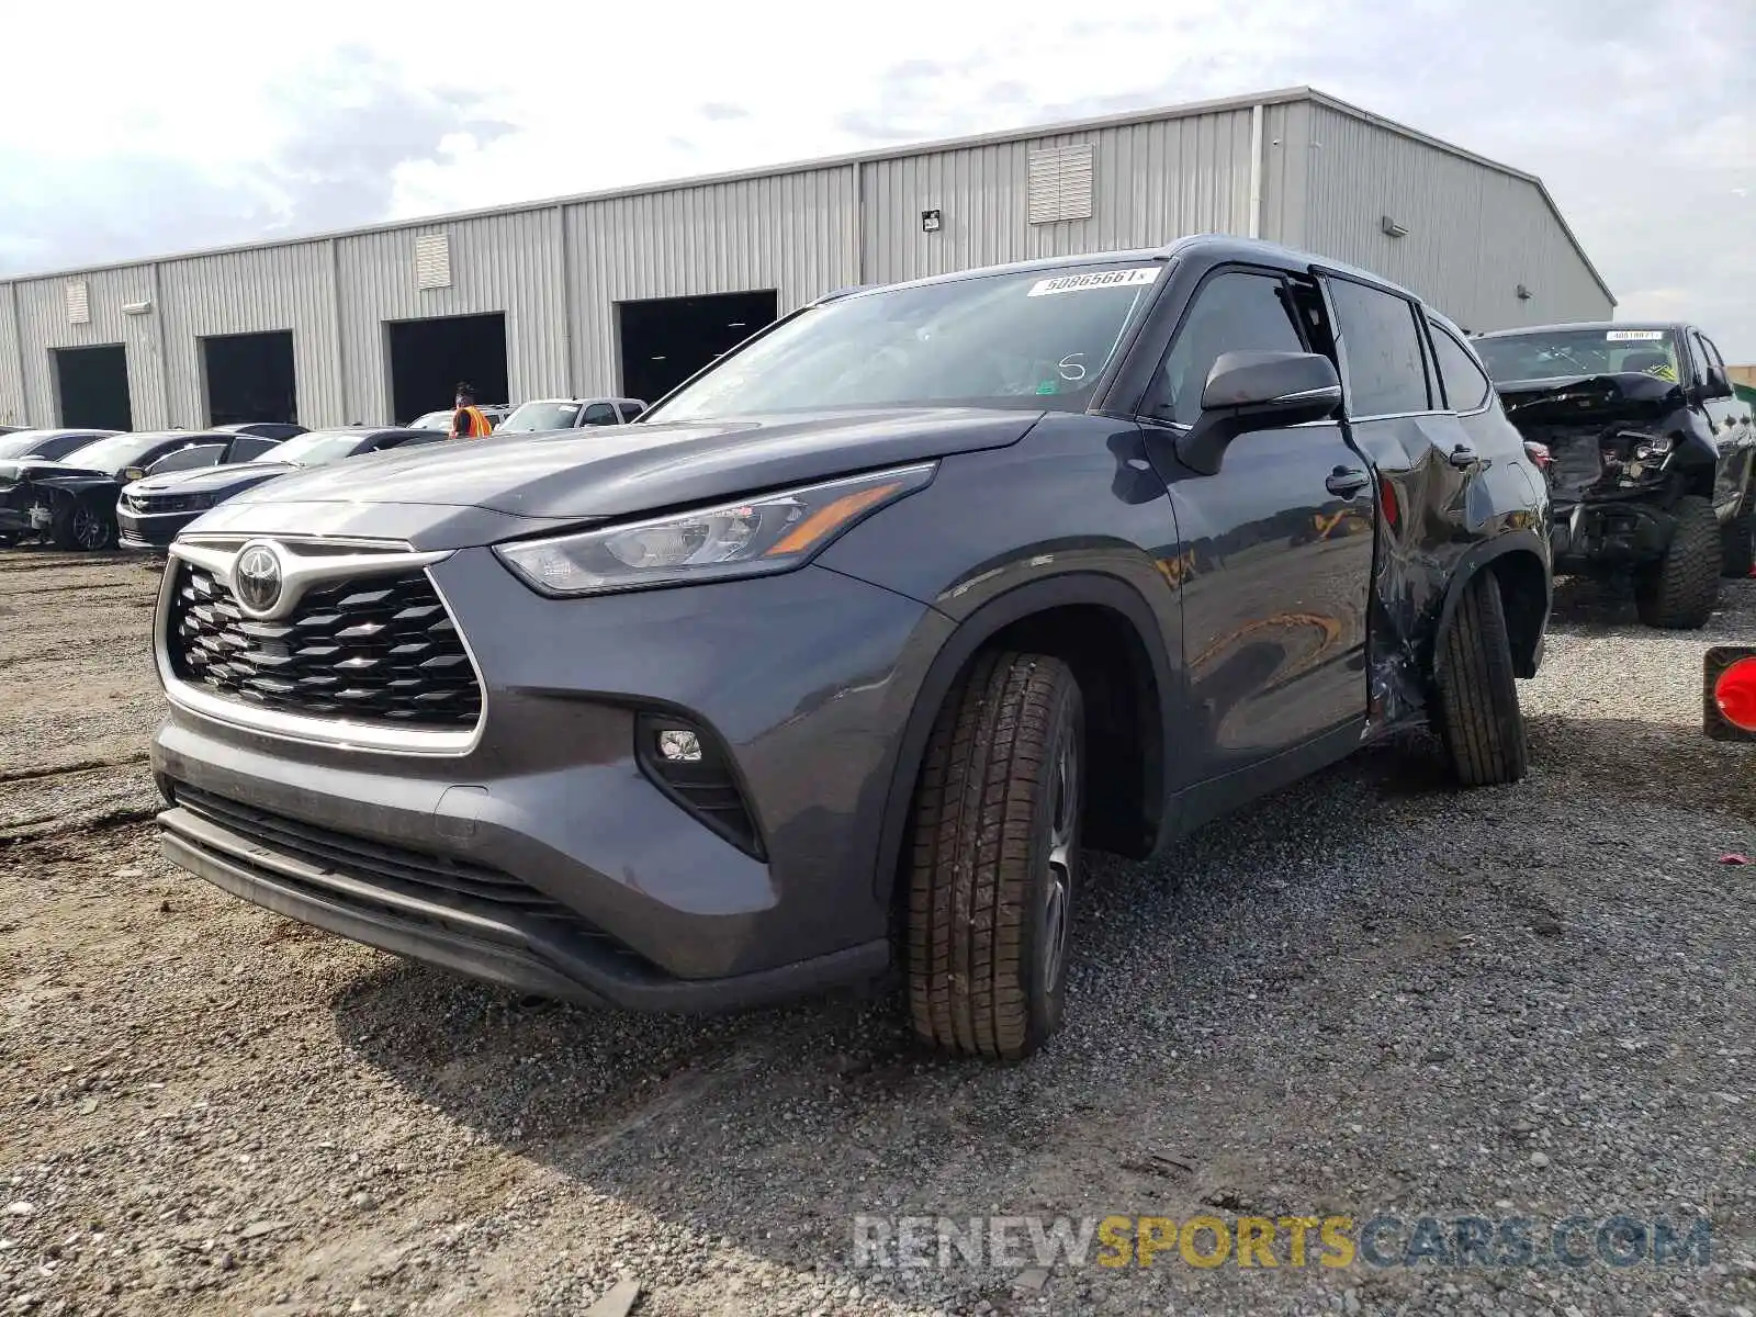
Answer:
[[1677, 413], [1688, 409], [1680, 385], [1644, 374], [1512, 379], [1494, 388], [1507, 420], [1554, 458], [1549, 486], [1563, 504], [1654, 486], [1663, 460], [1642, 462], [1635, 448], [1645, 435], [1677, 430]]

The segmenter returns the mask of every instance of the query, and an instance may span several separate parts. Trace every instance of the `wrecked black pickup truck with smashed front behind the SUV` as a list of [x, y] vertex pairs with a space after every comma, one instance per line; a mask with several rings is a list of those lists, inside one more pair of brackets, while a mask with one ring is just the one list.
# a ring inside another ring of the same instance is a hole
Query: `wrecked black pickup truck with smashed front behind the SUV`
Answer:
[[1547, 472], [1556, 574], [1631, 574], [1640, 620], [1695, 630], [1749, 576], [1756, 423], [1693, 325], [1551, 325], [1475, 348]]

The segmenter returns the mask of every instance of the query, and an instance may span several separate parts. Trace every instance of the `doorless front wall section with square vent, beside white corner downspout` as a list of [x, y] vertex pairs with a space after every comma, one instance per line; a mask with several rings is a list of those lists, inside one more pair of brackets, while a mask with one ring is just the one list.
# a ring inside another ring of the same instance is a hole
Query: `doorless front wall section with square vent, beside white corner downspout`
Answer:
[[[1031, 151], [1092, 142], [1092, 216], [1026, 220]], [[1243, 234], [1250, 111], [1191, 114], [959, 151], [874, 160], [864, 170], [867, 283], [1082, 251], [1150, 248], [1184, 234]], [[925, 234], [920, 212], [941, 211]]]

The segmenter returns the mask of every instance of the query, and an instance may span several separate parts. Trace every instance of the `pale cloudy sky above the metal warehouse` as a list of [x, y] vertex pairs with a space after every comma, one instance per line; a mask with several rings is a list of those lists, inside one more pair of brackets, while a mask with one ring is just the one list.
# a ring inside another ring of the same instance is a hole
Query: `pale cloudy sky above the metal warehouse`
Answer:
[[1540, 174], [1619, 316], [1756, 362], [1752, 0], [244, 12], [9, 14], [0, 274], [1312, 84]]

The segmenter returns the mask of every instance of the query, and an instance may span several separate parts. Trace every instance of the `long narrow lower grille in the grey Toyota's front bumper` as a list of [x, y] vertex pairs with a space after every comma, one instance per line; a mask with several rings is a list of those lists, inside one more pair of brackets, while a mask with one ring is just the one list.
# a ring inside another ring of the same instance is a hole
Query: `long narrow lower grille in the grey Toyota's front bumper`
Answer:
[[239, 804], [181, 781], [172, 787], [172, 795], [179, 806], [227, 832], [323, 873], [402, 889], [437, 904], [488, 908], [515, 920], [550, 918], [578, 925], [578, 931], [592, 931], [567, 906], [499, 869], [388, 846], [381, 841], [363, 841], [346, 832], [332, 832], [327, 827]]

